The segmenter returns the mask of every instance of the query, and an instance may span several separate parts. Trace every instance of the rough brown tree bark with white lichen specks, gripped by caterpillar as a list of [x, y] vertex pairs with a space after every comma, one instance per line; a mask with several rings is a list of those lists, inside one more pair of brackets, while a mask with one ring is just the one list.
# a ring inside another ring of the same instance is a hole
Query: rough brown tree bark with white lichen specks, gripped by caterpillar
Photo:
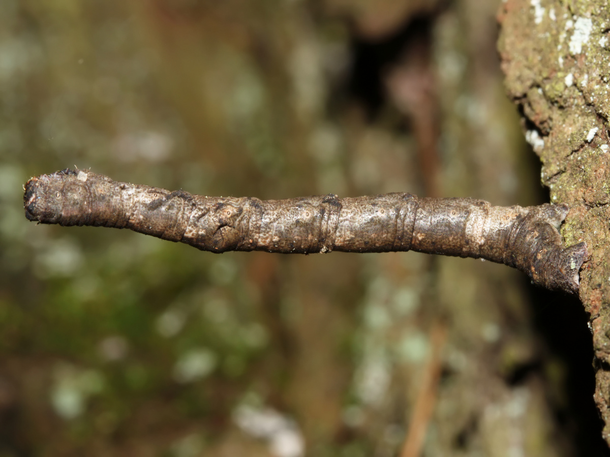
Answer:
[[551, 201], [570, 204], [563, 235], [585, 241], [580, 299], [590, 314], [595, 401], [610, 444], [610, 8], [606, 0], [508, 0], [500, 53], [509, 95], [542, 160]]

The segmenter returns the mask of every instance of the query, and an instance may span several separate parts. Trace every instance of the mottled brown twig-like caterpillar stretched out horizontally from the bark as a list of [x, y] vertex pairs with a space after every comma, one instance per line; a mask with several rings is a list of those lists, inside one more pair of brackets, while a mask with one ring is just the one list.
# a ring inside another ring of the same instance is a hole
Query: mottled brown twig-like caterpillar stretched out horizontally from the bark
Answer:
[[66, 169], [30, 179], [24, 207], [29, 220], [41, 223], [128, 228], [215, 253], [412, 250], [483, 258], [565, 292], [578, 291], [587, 256], [585, 243], [561, 245], [557, 229], [566, 204], [500, 207], [410, 193], [262, 201], [170, 192]]

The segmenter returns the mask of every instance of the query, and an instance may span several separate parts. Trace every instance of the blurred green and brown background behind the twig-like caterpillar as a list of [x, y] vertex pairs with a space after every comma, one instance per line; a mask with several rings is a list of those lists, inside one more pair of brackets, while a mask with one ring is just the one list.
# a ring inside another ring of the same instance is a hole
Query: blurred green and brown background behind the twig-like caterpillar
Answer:
[[29, 223], [66, 167], [203, 195], [548, 200], [497, 0], [0, 0], [0, 456], [608, 455], [580, 303], [418, 253]]

